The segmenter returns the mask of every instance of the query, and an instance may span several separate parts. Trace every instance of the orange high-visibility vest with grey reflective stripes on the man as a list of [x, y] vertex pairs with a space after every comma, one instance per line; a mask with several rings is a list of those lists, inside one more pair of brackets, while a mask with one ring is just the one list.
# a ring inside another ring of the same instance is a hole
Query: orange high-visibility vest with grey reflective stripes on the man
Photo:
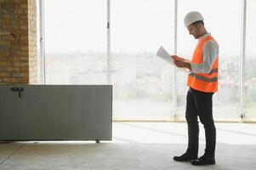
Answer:
[[[192, 63], [201, 64], [202, 63], [202, 50], [206, 42], [213, 40], [216, 42], [213, 37], [208, 36], [203, 39], [196, 47], [196, 50], [193, 54]], [[217, 42], [216, 42], [217, 43]], [[219, 67], [219, 56], [215, 59], [213, 63], [212, 70], [208, 73], [194, 73], [191, 72], [188, 76], [187, 85], [196, 90], [214, 93], [218, 91], [218, 67]]]

